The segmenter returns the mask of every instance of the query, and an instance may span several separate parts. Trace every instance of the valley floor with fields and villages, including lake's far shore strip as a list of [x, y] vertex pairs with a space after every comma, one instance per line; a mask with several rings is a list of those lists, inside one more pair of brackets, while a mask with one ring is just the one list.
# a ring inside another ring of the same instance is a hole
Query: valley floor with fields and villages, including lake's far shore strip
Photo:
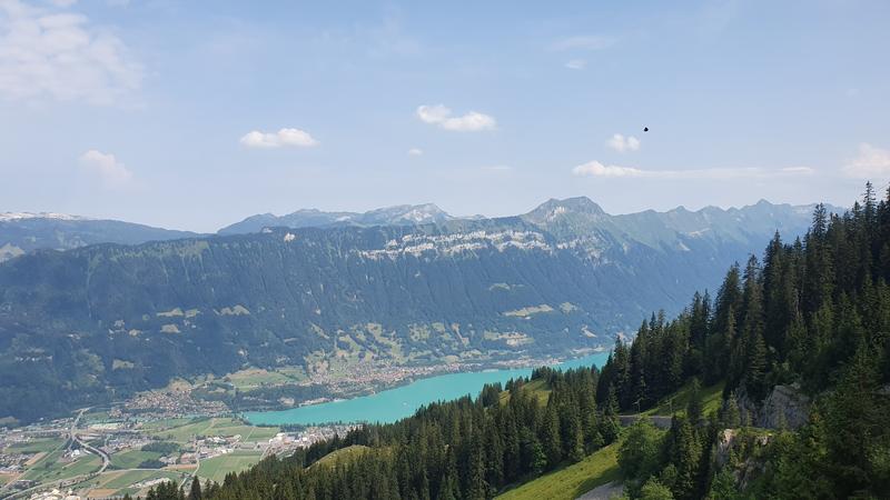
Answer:
[[[511, 359], [436, 366], [355, 363], [345, 369], [291, 372], [246, 369], [221, 380], [177, 382], [105, 408], [27, 427], [0, 427], [0, 499], [109, 499], [144, 496], [162, 481], [186, 484], [194, 477], [221, 482], [265, 457], [344, 436], [356, 426], [256, 427], [212, 396], [220, 382], [241, 403], [285, 409], [389, 389], [457, 371], [511, 369], [557, 362]], [[324, 388], [290, 398], [287, 388]], [[273, 394], [273, 399], [264, 394]], [[211, 398], [207, 398], [210, 394]], [[304, 394], [308, 396], [308, 394]], [[229, 400], [230, 402], [230, 400]], [[244, 408], [241, 408], [244, 410]], [[2, 426], [2, 423], [0, 423]]]

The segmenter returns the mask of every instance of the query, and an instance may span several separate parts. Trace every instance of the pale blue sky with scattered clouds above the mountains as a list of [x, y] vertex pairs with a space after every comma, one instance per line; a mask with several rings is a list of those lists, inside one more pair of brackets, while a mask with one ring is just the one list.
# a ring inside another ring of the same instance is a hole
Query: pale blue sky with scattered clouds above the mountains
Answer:
[[890, 2], [668, 3], [0, 0], [0, 211], [212, 231], [887, 186]]

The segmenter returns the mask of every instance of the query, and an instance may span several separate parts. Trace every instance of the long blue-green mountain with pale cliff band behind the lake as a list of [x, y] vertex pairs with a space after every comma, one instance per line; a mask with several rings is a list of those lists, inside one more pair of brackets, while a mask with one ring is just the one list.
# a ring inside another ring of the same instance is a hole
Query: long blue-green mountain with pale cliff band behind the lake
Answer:
[[246, 366], [609, 347], [809, 222], [810, 207], [610, 216], [578, 198], [501, 219], [39, 250], [0, 264], [0, 417]]

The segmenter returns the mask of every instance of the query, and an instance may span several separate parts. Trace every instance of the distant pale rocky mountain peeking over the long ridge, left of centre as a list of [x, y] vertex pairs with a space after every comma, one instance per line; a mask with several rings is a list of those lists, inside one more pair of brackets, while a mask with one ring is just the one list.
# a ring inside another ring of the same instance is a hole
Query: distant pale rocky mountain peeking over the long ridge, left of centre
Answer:
[[322, 228], [327, 226], [416, 226], [442, 223], [454, 217], [444, 212], [433, 203], [399, 204], [364, 213], [359, 212], [324, 212], [316, 209], [297, 210], [287, 216], [263, 213], [227, 226], [219, 234], [246, 234], [258, 232], [264, 228]]

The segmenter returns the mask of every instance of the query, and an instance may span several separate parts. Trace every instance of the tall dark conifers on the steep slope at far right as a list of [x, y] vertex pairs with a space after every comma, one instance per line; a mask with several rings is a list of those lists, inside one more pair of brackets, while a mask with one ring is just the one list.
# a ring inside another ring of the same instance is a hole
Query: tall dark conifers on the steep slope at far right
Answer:
[[[600, 394], [614, 393], [640, 411], [692, 382], [686, 416], [675, 416], [652, 467], [649, 442], [632, 431], [622, 447], [630, 492], [668, 488], [678, 499], [884, 498], [890, 491], [890, 191], [842, 216], [817, 207], [802, 240], [777, 233], [763, 263], [754, 257], [726, 273], [711, 308], [708, 296], [673, 321], [653, 317], [629, 346], [617, 342], [602, 370]], [[678, 378], [675, 359], [682, 359]], [[696, 397], [725, 380], [718, 416]], [[714, 468], [721, 429], [756, 426], [738, 399], [759, 404], [773, 386], [797, 382], [815, 400], [810, 422], [777, 431], [740, 431], [722, 468]], [[706, 417], [706, 418], [705, 418]], [[745, 491], [739, 478], [745, 476]], [[657, 484], [654, 483], [657, 478]], [[653, 481], [653, 482], [646, 482]]]

